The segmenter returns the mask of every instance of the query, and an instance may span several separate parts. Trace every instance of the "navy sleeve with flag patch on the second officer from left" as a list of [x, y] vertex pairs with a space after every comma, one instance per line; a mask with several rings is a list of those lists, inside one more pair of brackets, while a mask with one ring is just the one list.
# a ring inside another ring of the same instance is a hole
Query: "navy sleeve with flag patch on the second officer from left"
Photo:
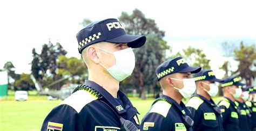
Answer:
[[147, 113], [140, 124], [140, 130], [171, 130], [170, 123], [171, 120], [167, 120], [163, 115]]

